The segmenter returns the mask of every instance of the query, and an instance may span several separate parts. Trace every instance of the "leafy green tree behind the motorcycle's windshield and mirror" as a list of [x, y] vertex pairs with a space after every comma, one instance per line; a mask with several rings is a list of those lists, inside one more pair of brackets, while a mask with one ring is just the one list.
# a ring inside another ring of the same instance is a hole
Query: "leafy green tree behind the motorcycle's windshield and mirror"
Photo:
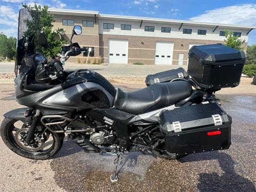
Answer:
[[34, 6], [27, 4], [22, 4], [22, 6], [28, 9], [32, 18], [31, 20], [25, 20], [28, 28], [24, 34], [25, 37], [30, 37], [35, 34], [36, 50], [43, 52], [46, 57], [50, 57], [50, 52], [47, 49], [43, 49], [37, 43], [37, 36], [43, 29], [52, 52], [57, 55], [61, 51], [61, 46], [67, 43], [67, 41], [61, 36], [65, 33], [63, 29], [58, 28], [57, 30], [52, 30], [54, 17], [48, 12], [49, 7], [46, 5], [37, 5], [36, 3]]

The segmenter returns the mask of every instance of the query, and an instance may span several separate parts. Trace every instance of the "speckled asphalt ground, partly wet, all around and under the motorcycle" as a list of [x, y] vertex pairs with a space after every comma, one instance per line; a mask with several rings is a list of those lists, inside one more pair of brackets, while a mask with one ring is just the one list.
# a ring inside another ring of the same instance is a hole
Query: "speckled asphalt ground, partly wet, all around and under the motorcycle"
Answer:
[[[11, 104], [15, 102], [13, 91], [10, 91], [13, 85], [9, 86], [7, 95], [0, 90], [2, 116], [18, 105]], [[256, 93], [222, 94], [218, 97], [223, 102], [222, 107], [233, 117], [232, 144], [228, 150], [193, 154], [179, 161], [167, 161], [151, 154], [128, 153], [119, 169], [119, 181], [111, 183], [110, 175], [114, 170], [114, 156], [111, 154], [100, 157], [84, 153], [75, 143], [66, 141], [52, 159], [31, 161], [18, 157], [0, 141], [3, 148], [0, 171], [4, 178], [0, 180], [1, 190], [29, 191], [29, 186], [32, 186], [32, 189], [41, 191], [256, 191]], [[8, 161], [13, 166], [7, 165]], [[24, 172], [22, 168], [19, 171], [17, 165], [25, 166], [25, 170], [34, 166], [36, 171], [34, 174]], [[8, 167], [8, 172], [4, 166]], [[25, 184], [22, 181], [26, 181]], [[16, 186], [12, 188], [14, 183]]]

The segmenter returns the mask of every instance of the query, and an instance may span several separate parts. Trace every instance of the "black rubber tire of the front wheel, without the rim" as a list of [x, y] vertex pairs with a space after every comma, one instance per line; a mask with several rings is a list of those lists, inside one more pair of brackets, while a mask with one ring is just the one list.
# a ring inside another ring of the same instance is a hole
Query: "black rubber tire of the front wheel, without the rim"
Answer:
[[5, 145], [11, 149], [14, 153], [25, 157], [29, 159], [36, 159], [36, 160], [43, 160], [48, 159], [51, 156], [58, 153], [58, 151], [61, 149], [63, 144], [63, 138], [65, 137], [65, 134], [59, 134], [59, 133], [51, 133], [52, 135], [52, 146], [43, 151], [32, 151], [32, 150], [26, 150], [25, 148], [20, 147], [18, 145], [17, 141], [15, 141], [13, 132], [19, 130], [17, 127], [14, 126], [14, 123], [18, 122], [18, 120], [10, 119], [10, 118], [4, 118], [2, 124], [1, 124], [1, 137], [4, 141]]

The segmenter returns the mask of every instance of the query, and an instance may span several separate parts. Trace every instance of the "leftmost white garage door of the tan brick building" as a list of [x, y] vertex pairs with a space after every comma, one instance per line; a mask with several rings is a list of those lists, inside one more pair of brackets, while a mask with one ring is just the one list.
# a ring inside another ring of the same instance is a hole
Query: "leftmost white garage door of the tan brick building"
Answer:
[[109, 39], [109, 63], [128, 63], [128, 40]]

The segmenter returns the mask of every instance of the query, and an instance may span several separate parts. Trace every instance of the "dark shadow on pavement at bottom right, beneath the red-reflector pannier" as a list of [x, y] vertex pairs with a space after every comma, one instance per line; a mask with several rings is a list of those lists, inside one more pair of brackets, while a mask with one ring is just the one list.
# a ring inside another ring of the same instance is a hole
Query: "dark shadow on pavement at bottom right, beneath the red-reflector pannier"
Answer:
[[254, 184], [241, 175], [237, 174], [234, 166], [235, 162], [226, 153], [212, 152], [211, 156], [190, 156], [190, 158], [180, 159], [181, 163], [196, 162], [216, 159], [221, 170], [224, 172], [219, 175], [217, 172], [200, 173], [197, 188], [198, 191], [256, 191]]

